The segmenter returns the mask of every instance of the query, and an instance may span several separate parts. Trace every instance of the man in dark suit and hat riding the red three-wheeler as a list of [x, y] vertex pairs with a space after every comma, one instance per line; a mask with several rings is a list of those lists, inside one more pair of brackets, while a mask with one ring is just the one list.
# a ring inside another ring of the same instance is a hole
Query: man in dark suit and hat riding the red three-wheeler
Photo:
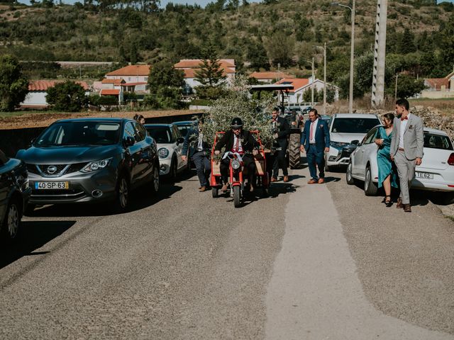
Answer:
[[[253, 191], [254, 176], [255, 176], [255, 161], [250, 155], [250, 152], [255, 156], [258, 154], [258, 142], [255, 140], [253, 135], [249, 131], [243, 130], [243, 121], [241, 118], [233, 118], [231, 123], [232, 130], [226, 131], [221, 139], [216, 143], [214, 148], [215, 154], [220, 154], [223, 147], [226, 148], [225, 152], [238, 152], [243, 159], [243, 163], [246, 169], [248, 169], [248, 184], [250, 191]], [[221, 170], [221, 176], [223, 186], [221, 191], [226, 191], [228, 188], [228, 167], [230, 166], [230, 159], [222, 159], [219, 168]]]

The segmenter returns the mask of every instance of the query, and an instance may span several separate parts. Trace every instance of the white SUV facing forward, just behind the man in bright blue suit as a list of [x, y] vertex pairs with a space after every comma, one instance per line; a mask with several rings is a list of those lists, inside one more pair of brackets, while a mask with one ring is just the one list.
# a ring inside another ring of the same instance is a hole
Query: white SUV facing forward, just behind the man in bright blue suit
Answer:
[[346, 166], [350, 154], [367, 132], [382, 122], [369, 113], [336, 113], [329, 127], [330, 147], [326, 154], [326, 170]]

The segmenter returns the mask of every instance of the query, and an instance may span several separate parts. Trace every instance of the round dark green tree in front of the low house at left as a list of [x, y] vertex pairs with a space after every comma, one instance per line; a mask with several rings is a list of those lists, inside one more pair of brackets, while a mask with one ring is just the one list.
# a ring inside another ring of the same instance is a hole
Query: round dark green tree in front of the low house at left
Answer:
[[55, 84], [45, 99], [54, 110], [65, 112], [79, 112], [88, 103], [84, 88], [74, 81]]

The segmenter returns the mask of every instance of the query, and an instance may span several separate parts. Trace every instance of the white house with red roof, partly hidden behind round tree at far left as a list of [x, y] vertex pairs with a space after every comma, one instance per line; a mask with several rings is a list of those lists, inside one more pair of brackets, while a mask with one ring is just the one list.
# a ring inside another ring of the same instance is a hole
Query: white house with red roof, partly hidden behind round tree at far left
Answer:
[[[49, 106], [45, 97], [48, 95], [48, 89], [55, 84], [62, 83], [64, 80], [33, 80], [28, 83], [28, 94], [21, 103], [21, 108], [47, 108]], [[89, 96], [89, 86], [85, 81], [75, 81], [82, 86], [85, 95]]]

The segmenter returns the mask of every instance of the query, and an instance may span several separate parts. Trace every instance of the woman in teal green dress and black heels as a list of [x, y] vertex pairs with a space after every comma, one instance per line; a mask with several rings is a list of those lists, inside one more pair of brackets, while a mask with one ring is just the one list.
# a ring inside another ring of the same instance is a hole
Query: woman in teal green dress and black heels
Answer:
[[375, 144], [378, 145], [377, 150], [377, 165], [378, 165], [378, 187], [384, 188], [384, 204], [387, 207], [392, 206], [391, 187], [397, 186], [397, 173], [393, 169], [393, 164], [389, 156], [389, 147], [391, 146], [392, 123], [394, 115], [386, 113], [383, 115], [383, 125], [377, 130], [375, 135]]

